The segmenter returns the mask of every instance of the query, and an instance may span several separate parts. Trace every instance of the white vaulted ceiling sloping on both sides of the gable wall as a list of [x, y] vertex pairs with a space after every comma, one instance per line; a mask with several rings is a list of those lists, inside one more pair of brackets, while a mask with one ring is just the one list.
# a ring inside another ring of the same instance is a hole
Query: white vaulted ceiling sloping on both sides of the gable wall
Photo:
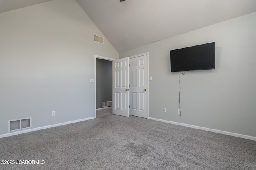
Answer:
[[[50, 0], [0, 0], [0, 12]], [[118, 52], [256, 12], [256, 0], [76, 0]]]

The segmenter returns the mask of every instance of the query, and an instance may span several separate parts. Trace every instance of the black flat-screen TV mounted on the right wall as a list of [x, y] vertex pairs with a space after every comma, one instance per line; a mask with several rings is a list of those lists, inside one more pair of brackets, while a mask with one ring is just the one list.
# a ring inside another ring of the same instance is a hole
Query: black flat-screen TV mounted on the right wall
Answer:
[[170, 51], [171, 72], [215, 69], [215, 42]]

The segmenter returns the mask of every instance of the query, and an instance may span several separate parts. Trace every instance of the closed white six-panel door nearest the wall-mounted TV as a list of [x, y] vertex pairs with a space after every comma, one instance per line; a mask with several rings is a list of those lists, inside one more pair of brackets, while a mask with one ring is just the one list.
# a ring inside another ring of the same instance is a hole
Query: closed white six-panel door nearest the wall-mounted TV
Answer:
[[130, 58], [130, 115], [147, 118], [147, 55]]

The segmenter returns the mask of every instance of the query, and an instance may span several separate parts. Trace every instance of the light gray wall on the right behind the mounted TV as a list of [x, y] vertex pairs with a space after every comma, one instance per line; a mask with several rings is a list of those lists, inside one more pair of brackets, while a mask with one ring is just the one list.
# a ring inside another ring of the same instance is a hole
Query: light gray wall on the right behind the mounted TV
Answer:
[[[149, 117], [256, 137], [255, 19], [256, 12], [120, 53], [149, 52]], [[181, 76], [179, 117], [179, 72], [170, 71], [170, 50], [214, 41], [215, 70]]]

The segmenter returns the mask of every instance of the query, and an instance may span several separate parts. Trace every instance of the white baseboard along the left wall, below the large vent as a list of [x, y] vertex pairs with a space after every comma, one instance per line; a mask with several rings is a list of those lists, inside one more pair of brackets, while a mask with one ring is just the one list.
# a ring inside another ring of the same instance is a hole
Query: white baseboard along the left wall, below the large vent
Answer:
[[38, 131], [38, 130], [47, 129], [47, 128], [50, 128], [50, 127], [67, 125], [67, 124], [70, 124], [70, 123], [76, 123], [76, 122], [80, 122], [80, 121], [86, 121], [86, 120], [90, 120], [90, 119], [94, 119], [94, 118], [95, 117], [88, 117], [88, 118], [85, 118], [85, 119], [78, 119], [78, 120], [68, 121], [68, 122], [64, 122], [64, 123], [58, 123], [58, 124], [55, 124], [55, 125], [48, 125], [48, 126], [43, 126], [43, 127], [36, 127], [36, 128], [33, 128], [33, 129], [26, 129], [26, 130], [23, 130], [23, 131], [16, 131], [16, 132], [12, 132], [12, 133], [6, 133], [6, 134], [3, 134], [3, 135], [0, 135], [0, 138], [9, 137], [9, 136], [13, 136], [13, 135], [18, 135], [18, 134], [22, 134], [22, 133], [28, 133], [28, 132], [32, 132], [32, 131]]

